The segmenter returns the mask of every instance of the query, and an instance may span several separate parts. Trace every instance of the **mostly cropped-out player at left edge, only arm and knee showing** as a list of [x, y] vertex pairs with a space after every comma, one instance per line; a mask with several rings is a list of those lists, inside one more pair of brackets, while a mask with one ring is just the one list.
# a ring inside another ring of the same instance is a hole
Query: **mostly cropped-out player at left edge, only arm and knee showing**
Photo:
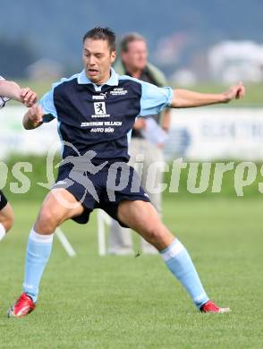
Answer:
[[[37, 101], [37, 94], [30, 88], [21, 89], [16, 82], [6, 81], [0, 76], [0, 108], [10, 99], [15, 99], [25, 106], [32, 106]], [[13, 209], [4, 193], [0, 191], [0, 241], [12, 226]]]

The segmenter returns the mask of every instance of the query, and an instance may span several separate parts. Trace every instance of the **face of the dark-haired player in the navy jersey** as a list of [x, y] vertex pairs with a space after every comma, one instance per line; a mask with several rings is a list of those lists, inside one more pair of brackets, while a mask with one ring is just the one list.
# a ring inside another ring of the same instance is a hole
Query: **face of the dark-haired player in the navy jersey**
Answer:
[[106, 40], [86, 38], [84, 41], [82, 59], [90, 81], [98, 85], [106, 82], [110, 77], [110, 68], [115, 58], [116, 52], [110, 50]]

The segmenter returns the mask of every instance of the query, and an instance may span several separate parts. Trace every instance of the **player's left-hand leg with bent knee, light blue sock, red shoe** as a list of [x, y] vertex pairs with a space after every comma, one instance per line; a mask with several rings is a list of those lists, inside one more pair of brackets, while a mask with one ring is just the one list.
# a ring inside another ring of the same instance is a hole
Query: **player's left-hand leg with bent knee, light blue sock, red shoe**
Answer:
[[47, 194], [29, 236], [23, 294], [11, 307], [9, 316], [20, 317], [35, 309], [40, 280], [52, 250], [55, 229], [66, 219], [80, 216], [83, 210], [72, 193], [65, 189], [53, 189]]

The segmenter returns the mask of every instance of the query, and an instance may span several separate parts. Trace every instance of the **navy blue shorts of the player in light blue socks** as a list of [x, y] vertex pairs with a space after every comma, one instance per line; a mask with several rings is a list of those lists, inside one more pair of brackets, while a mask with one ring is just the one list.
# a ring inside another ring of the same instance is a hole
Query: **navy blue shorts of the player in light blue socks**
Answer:
[[64, 188], [81, 202], [84, 212], [81, 216], [72, 218], [79, 224], [88, 223], [93, 209], [103, 209], [121, 226], [126, 227], [118, 219], [119, 203], [122, 200], [150, 201], [148, 194], [140, 186], [139, 175], [125, 163], [106, 165], [94, 174], [90, 171], [83, 172], [83, 169], [72, 169], [72, 166], [60, 166], [53, 188]]

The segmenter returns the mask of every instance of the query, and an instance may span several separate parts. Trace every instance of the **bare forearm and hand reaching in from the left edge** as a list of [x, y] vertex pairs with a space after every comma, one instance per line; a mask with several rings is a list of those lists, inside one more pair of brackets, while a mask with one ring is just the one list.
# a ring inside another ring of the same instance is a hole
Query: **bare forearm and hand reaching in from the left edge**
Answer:
[[33, 106], [37, 102], [37, 93], [32, 91], [30, 88], [21, 88], [14, 81], [0, 81], [0, 96], [14, 99], [25, 106]]

